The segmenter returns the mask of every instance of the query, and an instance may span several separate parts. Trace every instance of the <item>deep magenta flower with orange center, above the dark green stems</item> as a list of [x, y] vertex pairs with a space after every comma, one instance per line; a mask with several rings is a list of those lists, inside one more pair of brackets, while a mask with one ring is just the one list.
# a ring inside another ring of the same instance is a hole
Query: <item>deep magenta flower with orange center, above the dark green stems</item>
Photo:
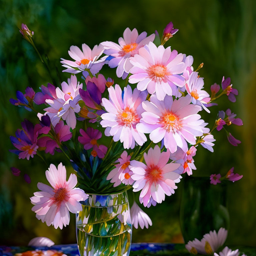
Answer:
[[99, 158], [103, 158], [107, 153], [108, 148], [104, 145], [99, 145], [97, 140], [101, 138], [102, 133], [99, 130], [88, 127], [86, 132], [80, 129], [82, 136], [78, 137], [78, 141], [84, 145], [84, 149], [88, 150], [92, 148], [91, 155]]

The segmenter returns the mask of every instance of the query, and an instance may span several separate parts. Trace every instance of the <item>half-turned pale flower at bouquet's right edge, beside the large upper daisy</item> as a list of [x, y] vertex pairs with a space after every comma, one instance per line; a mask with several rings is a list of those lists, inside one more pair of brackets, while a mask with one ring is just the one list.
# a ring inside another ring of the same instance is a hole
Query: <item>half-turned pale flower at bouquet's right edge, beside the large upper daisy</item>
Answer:
[[187, 93], [192, 97], [192, 103], [203, 107], [205, 111], [210, 113], [205, 106], [210, 101], [210, 95], [203, 90], [204, 79], [198, 77], [198, 72], [191, 73], [189, 80], [186, 81], [185, 88]]

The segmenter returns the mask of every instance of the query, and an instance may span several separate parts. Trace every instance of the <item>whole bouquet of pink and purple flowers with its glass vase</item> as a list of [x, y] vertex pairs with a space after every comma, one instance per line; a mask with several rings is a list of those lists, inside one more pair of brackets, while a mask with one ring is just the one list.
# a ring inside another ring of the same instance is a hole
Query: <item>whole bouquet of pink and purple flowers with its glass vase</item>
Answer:
[[[67, 181], [62, 163], [48, 166], [51, 186], [39, 182], [40, 191], [30, 199], [36, 217], [48, 226], [62, 229], [69, 212], [77, 214], [81, 255], [128, 254], [131, 225], [152, 225], [135, 201], [129, 210], [126, 190], [138, 192], [144, 207], [156, 206], [174, 193], [182, 174], [196, 169], [193, 157], [200, 145], [213, 152], [214, 130], [225, 130], [232, 145], [240, 143], [225, 128], [242, 125], [230, 109], [219, 112], [211, 130], [200, 115], [210, 113], [222, 95], [235, 102], [238, 91], [224, 77], [221, 89], [215, 83], [211, 95], [205, 91], [198, 73], [203, 63], [194, 70], [192, 56], [164, 47], [177, 31], [172, 22], [161, 38], [157, 31], [147, 36], [127, 28], [118, 43], [102, 42], [92, 50], [85, 43], [71, 46], [70, 59], [61, 59], [63, 72], [71, 73], [67, 82], [53, 80], [37, 93], [27, 87], [10, 100], [38, 116], [35, 125], [21, 123], [10, 137], [16, 148], [10, 151], [20, 159], [37, 155], [44, 161], [47, 154], [63, 154], [74, 169]], [[34, 32], [24, 24], [20, 32], [51, 74]], [[123, 82], [106, 79], [100, 73], [104, 65], [116, 68]], [[215, 174], [211, 182], [234, 176]]]

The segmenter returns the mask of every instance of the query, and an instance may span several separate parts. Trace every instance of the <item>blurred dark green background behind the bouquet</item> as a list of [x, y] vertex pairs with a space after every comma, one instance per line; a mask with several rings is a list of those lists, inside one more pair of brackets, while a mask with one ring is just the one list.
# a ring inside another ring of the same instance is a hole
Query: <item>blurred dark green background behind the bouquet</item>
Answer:
[[[47, 53], [55, 76], [55, 65], [61, 71], [61, 57], [68, 57], [71, 45], [82, 43], [93, 47], [102, 41], [117, 42], [126, 27], [136, 27], [139, 32], [159, 34], [172, 21], [178, 33], [167, 45], [178, 52], [194, 57], [194, 67], [201, 62], [204, 67], [205, 88], [221, 83], [222, 76], [231, 77], [239, 90], [236, 103], [220, 98], [211, 116], [205, 120], [213, 125], [218, 110], [231, 110], [242, 118], [242, 127], [231, 126], [232, 134], [242, 143], [231, 146], [223, 132], [214, 133], [214, 153], [203, 148], [195, 156], [196, 176], [222, 175], [232, 167], [243, 174], [242, 180], [228, 184], [228, 209], [230, 213], [229, 244], [256, 245], [256, 168], [255, 168], [255, 95], [256, 95], [256, 2], [254, 0], [143, 0], [143, 1], [29, 1], [0, 0], [0, 245], [26, 245], [36, 236], [47, 236], [56, 244], [74, 243], [75, 218], [63, 230], [35, 218], [29, 197], [37, 191], [37, 182], [46, 183], [46, 166], [39, 157], [19, 160], [10, 153], [9, 140], [25, 117], [36, 120], [32, 113], [9, 103], [16, 90], [27, 86], [39, 90], [50, 82], [50, 77], [33, 48], [19, 33], [25, 23], [35, 32], [34, 41], [41, 53]], [[107, 69], [106, 69], [107, 70]], [[115, 79], [115, 70], [108, 70]], [[62, 80], [69, 74], [61, 73]], [[56, 76], [55, 76], [56, 77]], [[115, 82], [118, 82], [115, 79]], [[66, 163], [60, 155], [50, 157], [50, 162]], [[67, 163], [66, 163], [67, 164]], [[22, 175], [15, 177], [10, 167], [19, 168]], [[71, 168], [68, 170], [71, 172]], [[30, 175], [27, 184], [23, 175]], [[148, 230], [133, 230], [133, 242], [182, 242], [179, 225], [179, 205], [183, 181], [176, 193], [156, 207], [145, 211], [153, 221]]]

